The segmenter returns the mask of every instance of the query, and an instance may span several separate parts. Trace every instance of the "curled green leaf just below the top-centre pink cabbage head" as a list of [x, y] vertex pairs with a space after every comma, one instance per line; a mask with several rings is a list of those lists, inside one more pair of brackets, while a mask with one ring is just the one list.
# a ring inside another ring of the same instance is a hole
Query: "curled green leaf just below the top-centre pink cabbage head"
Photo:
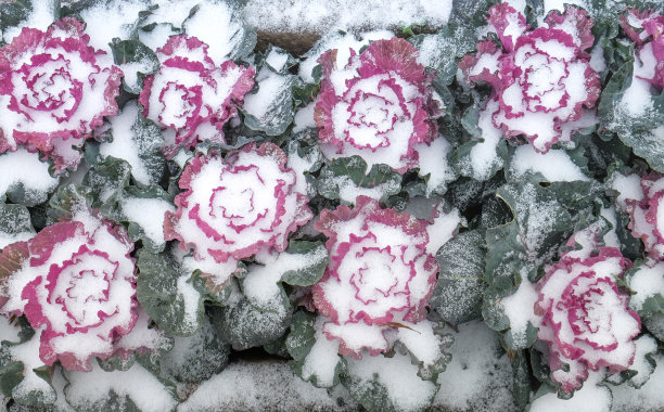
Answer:
[[[340, 157], [331, 160], [322, 167], [320, 177], [316, 182], [318, 193], [329, 199], [339, 199], [342, 185], [346, 181], [339, 181], [341, 177], [347, 177], [358, 188], [373, 189], [380, 185], [385, 186], [385, 194], [381, 202], [387, 197], [399, 193], [401, 189], [401, 176], [387, 165], [373, 165], [367, 173], [367, 162], [360, 156]], [[347, 204], [342, 199], [342, 203]]]

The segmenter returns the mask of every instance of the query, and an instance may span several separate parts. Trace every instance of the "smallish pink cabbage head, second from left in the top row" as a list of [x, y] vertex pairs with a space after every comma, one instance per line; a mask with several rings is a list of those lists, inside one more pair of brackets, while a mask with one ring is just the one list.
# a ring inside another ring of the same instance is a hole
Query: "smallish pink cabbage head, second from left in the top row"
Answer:
[[232, 61], [217, 67], [207, 48], [195, 37], [169, 38], [156, 52], [159, 69], [143, 80], [143, 115], [166, 129], [168, 157], [199, 141], [224, 143], [221, 128], [254, 86], [254, 68]]

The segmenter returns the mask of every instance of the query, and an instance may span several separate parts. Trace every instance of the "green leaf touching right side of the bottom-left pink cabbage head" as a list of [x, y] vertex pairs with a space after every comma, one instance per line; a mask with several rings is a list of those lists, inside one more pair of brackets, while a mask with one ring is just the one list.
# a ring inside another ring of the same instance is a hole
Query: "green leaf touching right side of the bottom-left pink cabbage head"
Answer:
[[203, 292], [196, 288], [201, 296], [195, 323], [184, 323], [184, 299], [177, 286], [178, 279], [186, 275], [180, 265], [167, 252], [152, 254], [148, 249], [141, 249], [138, 253], [137, 266], [139, 273], [136, 297], [150, 318], [170, 335], [188, 336], [197, 331], [205, 316]]

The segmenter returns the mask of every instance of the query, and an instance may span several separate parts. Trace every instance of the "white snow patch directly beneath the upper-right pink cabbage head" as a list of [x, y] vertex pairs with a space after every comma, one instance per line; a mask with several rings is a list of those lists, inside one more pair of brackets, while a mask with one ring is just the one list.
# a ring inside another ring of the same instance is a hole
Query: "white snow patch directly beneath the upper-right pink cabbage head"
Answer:
[[549, 182], [590, 180], [564, 150], [549, 150], [540, 154], [529, 144], [516, 147], [510, 160], [509, 171], [515, 179], [522, 179], [526, 173], [538, 172]]

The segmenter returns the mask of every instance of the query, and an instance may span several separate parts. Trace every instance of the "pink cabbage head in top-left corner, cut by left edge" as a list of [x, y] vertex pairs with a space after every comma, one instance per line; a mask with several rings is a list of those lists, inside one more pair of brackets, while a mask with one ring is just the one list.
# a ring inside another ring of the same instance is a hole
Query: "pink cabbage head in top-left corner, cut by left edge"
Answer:
[[55, 170], [75, 168], [80, 147], [104, 116], [118, 113], [123, 72], [88, 46], [72, 17], [46, 33], [24, 27], [0, 49], [0, 152], [24, 145], [47, 153]]

